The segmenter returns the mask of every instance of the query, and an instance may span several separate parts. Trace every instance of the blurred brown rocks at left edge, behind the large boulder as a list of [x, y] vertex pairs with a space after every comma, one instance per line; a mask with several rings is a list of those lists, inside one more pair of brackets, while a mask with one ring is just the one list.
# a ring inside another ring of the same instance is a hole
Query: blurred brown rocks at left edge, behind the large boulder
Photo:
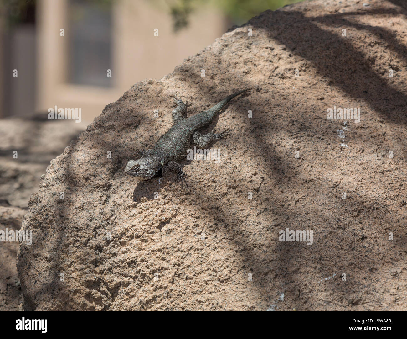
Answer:
[[[0, 231], [20, 230], [28, 199], [38, 191], [50, 160], [85, 129], [73, 121], [49, 121], [46, 115], [0, 121]], [[0, 242], [0, 310], [22, 309], [15, 265], [19, 247], [18, 242]]]

